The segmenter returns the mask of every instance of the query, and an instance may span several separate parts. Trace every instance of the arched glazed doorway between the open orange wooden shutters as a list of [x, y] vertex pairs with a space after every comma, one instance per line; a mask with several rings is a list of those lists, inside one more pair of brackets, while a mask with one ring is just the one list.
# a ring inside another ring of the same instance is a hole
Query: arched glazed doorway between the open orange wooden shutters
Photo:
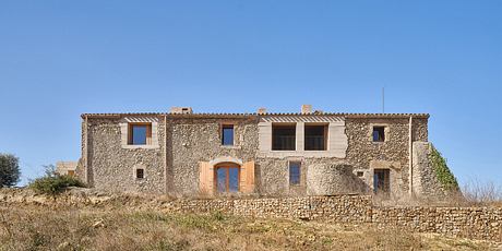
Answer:
[[235, 165], [224, 165], [215, 168], [216, 190], [219, 193], [239, 192], [240, 168]]

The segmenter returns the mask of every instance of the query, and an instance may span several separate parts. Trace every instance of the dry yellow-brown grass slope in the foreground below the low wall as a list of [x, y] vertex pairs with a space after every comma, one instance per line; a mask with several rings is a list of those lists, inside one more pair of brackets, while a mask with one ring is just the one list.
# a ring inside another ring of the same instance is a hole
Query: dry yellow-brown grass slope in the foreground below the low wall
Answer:
[[0, 250], [489, 250], [402, 228], [127, 208], [0, 206]]

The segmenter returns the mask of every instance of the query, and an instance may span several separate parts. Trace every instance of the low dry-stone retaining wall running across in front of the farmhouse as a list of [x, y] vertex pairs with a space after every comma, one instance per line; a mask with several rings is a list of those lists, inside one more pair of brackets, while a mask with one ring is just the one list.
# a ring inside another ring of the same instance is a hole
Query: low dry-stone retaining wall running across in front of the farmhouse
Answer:
[[502, 241], [502, 207], [382, 207], [374, 206], [369, 195], [172, 200], [152, 195], [105, 194], [86, 189], [72, 190], [56, 198], [34, 194], [29, 190], [0, 189], [0, 204], [128, 207], [165, 213], [223, 212], [248, 217], [374, 224], [382, 228], [398, 226], [418, 232]]

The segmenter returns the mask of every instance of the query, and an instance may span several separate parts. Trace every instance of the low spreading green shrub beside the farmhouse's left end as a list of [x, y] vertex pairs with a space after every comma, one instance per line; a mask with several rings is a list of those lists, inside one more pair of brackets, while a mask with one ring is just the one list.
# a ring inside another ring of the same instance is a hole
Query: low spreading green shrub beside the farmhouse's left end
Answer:
[[33, 180], [29, 186], [36, 192], [56, 195], [69, 187], [85, 187], [82, 181], [72, 176], [56, 174], [53, 166], [46, 166], [46, 175]]

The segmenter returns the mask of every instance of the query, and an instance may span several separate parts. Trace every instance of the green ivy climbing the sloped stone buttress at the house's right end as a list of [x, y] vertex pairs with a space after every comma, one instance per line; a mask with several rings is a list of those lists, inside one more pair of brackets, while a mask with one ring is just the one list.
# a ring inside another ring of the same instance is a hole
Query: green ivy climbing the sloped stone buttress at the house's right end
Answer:
[[433, 145], [431, 145], [429, 159], [432, 168], [434, 169], [435, 177], [438, 178], [438, 181], [441, 183], [441, 186], [447, 191], [459, 191], [458, 182], [456, 181], [453, 172], [447, 167], [446, 159]]

